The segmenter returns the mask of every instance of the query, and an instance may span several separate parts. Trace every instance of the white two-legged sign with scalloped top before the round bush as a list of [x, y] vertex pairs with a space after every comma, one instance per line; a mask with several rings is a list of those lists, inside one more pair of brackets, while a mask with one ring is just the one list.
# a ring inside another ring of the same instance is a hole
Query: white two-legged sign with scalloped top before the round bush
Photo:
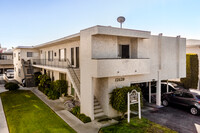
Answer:
[[138, 117], [141, 119], [141, 104], [140, 104], [140, 92], [132, 90], [131, 93], [127, 94], [127, 107], [128, 107], [128, 123], [130, 123], [130, 106], [131, 104], [138, 104]]

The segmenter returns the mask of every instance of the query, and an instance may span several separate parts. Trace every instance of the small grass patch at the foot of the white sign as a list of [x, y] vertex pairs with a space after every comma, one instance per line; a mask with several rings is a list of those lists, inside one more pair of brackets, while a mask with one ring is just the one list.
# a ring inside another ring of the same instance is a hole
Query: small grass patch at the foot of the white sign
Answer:
[[167, 127], [161, 126], [159, 124], [153, 123], [148, 119], [133, 118], [130, 124], [127, 120], [113, 125], [101, 128], [100, 133], [177, 133]]

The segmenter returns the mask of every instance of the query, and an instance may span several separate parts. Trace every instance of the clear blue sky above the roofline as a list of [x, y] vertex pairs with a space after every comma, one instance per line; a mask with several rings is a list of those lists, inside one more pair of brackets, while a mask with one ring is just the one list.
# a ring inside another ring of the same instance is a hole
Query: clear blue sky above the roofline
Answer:
[[37, 45], [94, 25], [200, 39], [200, 0], [0, 0], [3, 47]]

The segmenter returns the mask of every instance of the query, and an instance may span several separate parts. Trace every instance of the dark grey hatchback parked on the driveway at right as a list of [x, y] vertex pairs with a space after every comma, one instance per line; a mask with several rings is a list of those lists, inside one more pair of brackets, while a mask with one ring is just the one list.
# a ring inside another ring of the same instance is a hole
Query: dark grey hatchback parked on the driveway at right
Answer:
[[165, 93], [162, 97], [162, 104], [176, 104], [190, 110], [192, 115], [200, 113], [200, 91], [180, 89], [175, 92]]

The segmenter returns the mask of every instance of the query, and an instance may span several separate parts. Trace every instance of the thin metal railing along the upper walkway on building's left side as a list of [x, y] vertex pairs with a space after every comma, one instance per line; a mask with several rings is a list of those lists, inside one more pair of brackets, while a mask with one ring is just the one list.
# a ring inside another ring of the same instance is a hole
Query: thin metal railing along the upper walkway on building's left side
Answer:
[[67, 60], [59, 60], [59, 59], [33, 59], [33, 65], [43, 65], [43, 66], [51, 66], [58, 68], [68, 68], [70, 65]]

